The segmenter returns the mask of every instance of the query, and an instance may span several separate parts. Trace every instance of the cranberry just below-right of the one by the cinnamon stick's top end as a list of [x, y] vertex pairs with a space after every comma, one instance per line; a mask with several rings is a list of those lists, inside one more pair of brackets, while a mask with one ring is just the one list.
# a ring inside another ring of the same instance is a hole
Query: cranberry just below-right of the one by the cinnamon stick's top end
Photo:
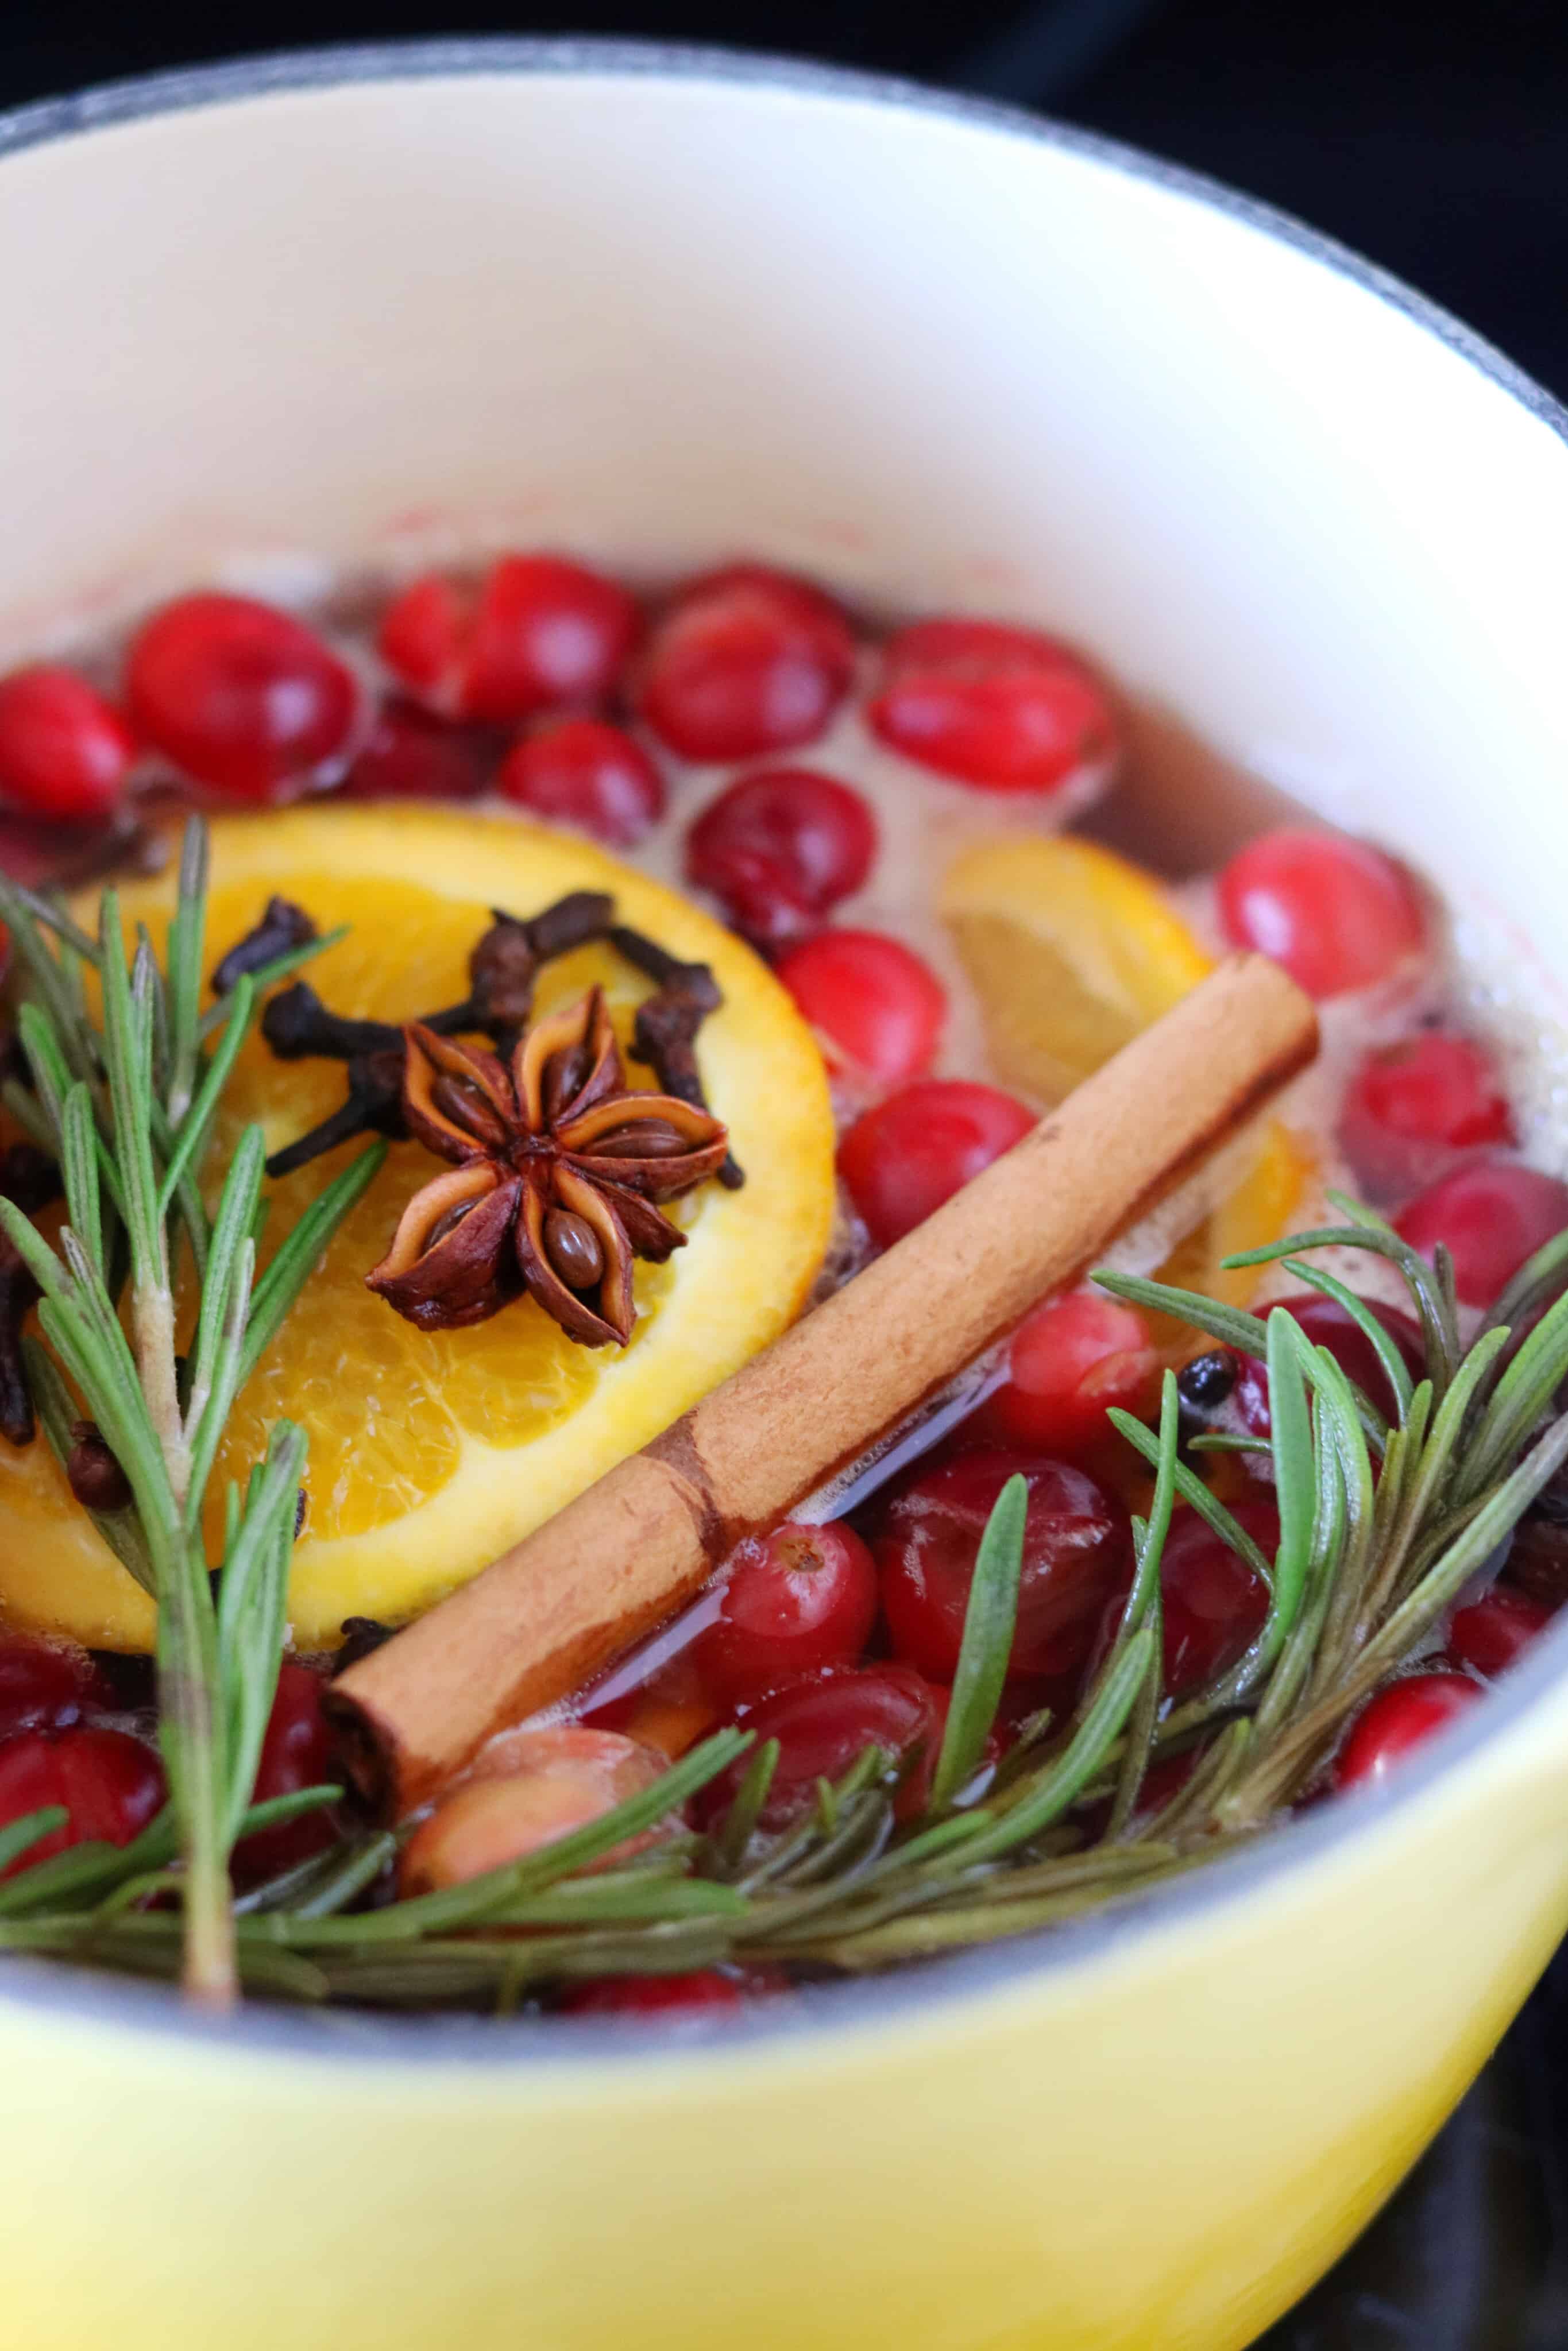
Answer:
[[1422, 1030], [1368, 1053], [1345, 1093], [1340, 1145], [1363, 1192], [1408, 1199], [1514, 1119], [1490, 1053], [1472, 1037]]

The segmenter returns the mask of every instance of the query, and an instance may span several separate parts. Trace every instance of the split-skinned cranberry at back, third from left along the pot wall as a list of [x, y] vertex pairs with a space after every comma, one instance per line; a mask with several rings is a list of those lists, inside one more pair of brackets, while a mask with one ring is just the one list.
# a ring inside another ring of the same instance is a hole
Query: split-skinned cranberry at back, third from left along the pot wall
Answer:
[[381, 618], [381, 658], [442, 710], [505, 724], [599, 703], [637, 644], [642, 616], [618, 581], [559, 555], [503, 555], [477, 592], [435, 574]]

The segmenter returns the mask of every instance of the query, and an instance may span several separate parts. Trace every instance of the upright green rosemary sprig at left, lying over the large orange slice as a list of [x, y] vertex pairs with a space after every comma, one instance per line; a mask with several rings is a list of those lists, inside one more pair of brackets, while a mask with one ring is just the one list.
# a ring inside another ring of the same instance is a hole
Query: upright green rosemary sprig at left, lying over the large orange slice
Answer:
[[[33, 1124], [61, 1161], [66, 1225], [59, 1248], [49, 1248], [9, 1201], [0, 1201], [0, 1223], [42, 1291], [47, 1347], [33, 1347], [28, 1364], [45, 1434], [63, 1453], [71, 1420], [89, 1418], [132, 1491], [129, 1509], [99, 1514], [96, 1526], [158, 1601], [160, 1744], [172, 1794], [172, 1827], [139, 1838], [113, 1869], [78, 1848], [59, 1857], [73, 1862], [68, 1871], [45, 1864], [5, 1893], [38, 1895], [52, 1871], [56, 1893], [113, 1902], [134, 1876], [179, 1855], [183, 1982], [195, 1998], [223, 2005], [237, 1984], [228, 1853], [244, 1824], [277, 1683], [303, 1429], [277, 1422], [244, 1495], [230, 1491], [216, 1601], [202, 1509], [235, 1394], [381, 1150], [364, 1152], [329, 1187], [256, 1284], [261, 1128], [240, 1138], [214, 1215], [200, 1190], [259, 994], [256, 980], [242, 978], [202, 1011], [200, 823], [186, 828], [162, 966], [146, 931], [127, 952], [113, 889], [96, 938], [9, 882], [0, 882], [0, 917], [26, 980], [19, 1034], [33, 1072]], [[85, 969], [96, 978], [96, 1018]], [[181, 1237], [200, 1277], [183, 1401], [174, 1298]]]

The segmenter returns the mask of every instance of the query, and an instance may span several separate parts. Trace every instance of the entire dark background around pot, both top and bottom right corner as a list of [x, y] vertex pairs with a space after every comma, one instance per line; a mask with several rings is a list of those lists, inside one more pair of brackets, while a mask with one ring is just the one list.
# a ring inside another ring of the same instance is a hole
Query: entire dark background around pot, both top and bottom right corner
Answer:
[[[0, 0], [0, 103], [421, 33], [731, 42], [1039, 106], [1331, 230], [1568, 397], [1568, 0]], [[1568, 2351], [1568, 1958], [1260, 2351]]]

